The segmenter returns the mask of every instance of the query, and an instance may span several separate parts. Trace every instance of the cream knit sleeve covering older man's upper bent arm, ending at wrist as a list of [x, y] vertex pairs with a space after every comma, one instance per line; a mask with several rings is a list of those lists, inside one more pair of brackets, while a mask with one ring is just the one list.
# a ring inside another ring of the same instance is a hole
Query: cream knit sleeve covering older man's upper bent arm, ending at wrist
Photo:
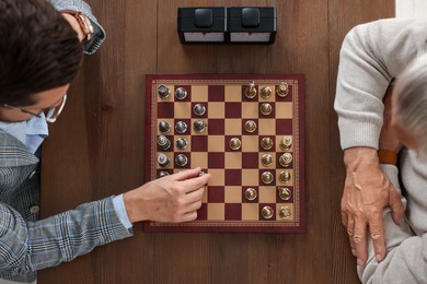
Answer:
[[354, 27], [339, 54], [335, 97], [343, 149], [378, 149], [382, 97], [403, 68], [425, 51], [427, 21], [380, 20]]

